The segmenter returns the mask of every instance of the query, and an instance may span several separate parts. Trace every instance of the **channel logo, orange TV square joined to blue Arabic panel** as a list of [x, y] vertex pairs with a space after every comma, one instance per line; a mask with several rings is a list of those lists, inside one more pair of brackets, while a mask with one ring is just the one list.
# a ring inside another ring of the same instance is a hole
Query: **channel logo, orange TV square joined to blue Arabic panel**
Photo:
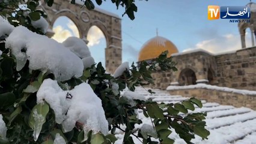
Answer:
[[249, 7], [208, 5], [208, 19], [250, 19]]

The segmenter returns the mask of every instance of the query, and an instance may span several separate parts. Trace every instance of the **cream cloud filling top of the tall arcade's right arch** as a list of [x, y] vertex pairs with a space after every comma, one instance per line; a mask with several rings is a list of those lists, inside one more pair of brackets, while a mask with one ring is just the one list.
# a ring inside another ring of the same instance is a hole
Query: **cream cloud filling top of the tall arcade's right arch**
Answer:
[[87, 46], [92, 47], [99, 44], [102, 38], [105, 38], [102, 30], [100, 30], [97, 26], [91, 26], [87, 34], [87, 40], [89, 41]]

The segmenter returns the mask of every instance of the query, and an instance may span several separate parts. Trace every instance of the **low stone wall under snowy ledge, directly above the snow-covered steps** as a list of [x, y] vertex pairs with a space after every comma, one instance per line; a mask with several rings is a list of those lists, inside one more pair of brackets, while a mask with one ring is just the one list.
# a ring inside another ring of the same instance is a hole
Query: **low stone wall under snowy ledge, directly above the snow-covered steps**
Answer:
[[218, 91], [215, 89], [174, 89], [168, 90], [171, 95], [182, 95], [183, 97], [195, 97], [207, 102], [215, 102], [235, 107], [249, 107], [256, 110], [256, 95], [243, 95], [235, 92]]

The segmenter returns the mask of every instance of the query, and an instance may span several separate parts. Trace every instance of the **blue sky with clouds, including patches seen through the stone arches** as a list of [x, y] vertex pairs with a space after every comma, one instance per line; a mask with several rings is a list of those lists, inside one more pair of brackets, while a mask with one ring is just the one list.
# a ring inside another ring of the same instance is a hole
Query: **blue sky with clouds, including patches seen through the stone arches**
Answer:
[[[135, 13], [135, 20], [130, 20], [127, 15], [122, 17], [124, 8], [117, 10], [109, 0], [103, 1], [99, 8], [121, 17], [122, 61], [131, 63], [138, 61], [139, 50], [146, 41], [156, 36], [156, 29], [159, 36], [172, 41], [179, 52], [204, 49], [223, 53], [241, 49], [238, 23], [225, 19], [208, 20], [207, 7], [244, 6], [248, 3], [249, 0], [136, 0], [138, 12]], [[59, 42], [66, 37], [79, 37], [78, 29], [67, 17], [59, 17], [53, 31], [56, 33], [53, 38]], [[246, 47], [252, 46], [250, 35], [249, 29], [246, 29]], [[106, 40], [103, 32], [97, 26], [92, 26], [87, 39], [95, 61], [102, 61], [105, 65]]]

